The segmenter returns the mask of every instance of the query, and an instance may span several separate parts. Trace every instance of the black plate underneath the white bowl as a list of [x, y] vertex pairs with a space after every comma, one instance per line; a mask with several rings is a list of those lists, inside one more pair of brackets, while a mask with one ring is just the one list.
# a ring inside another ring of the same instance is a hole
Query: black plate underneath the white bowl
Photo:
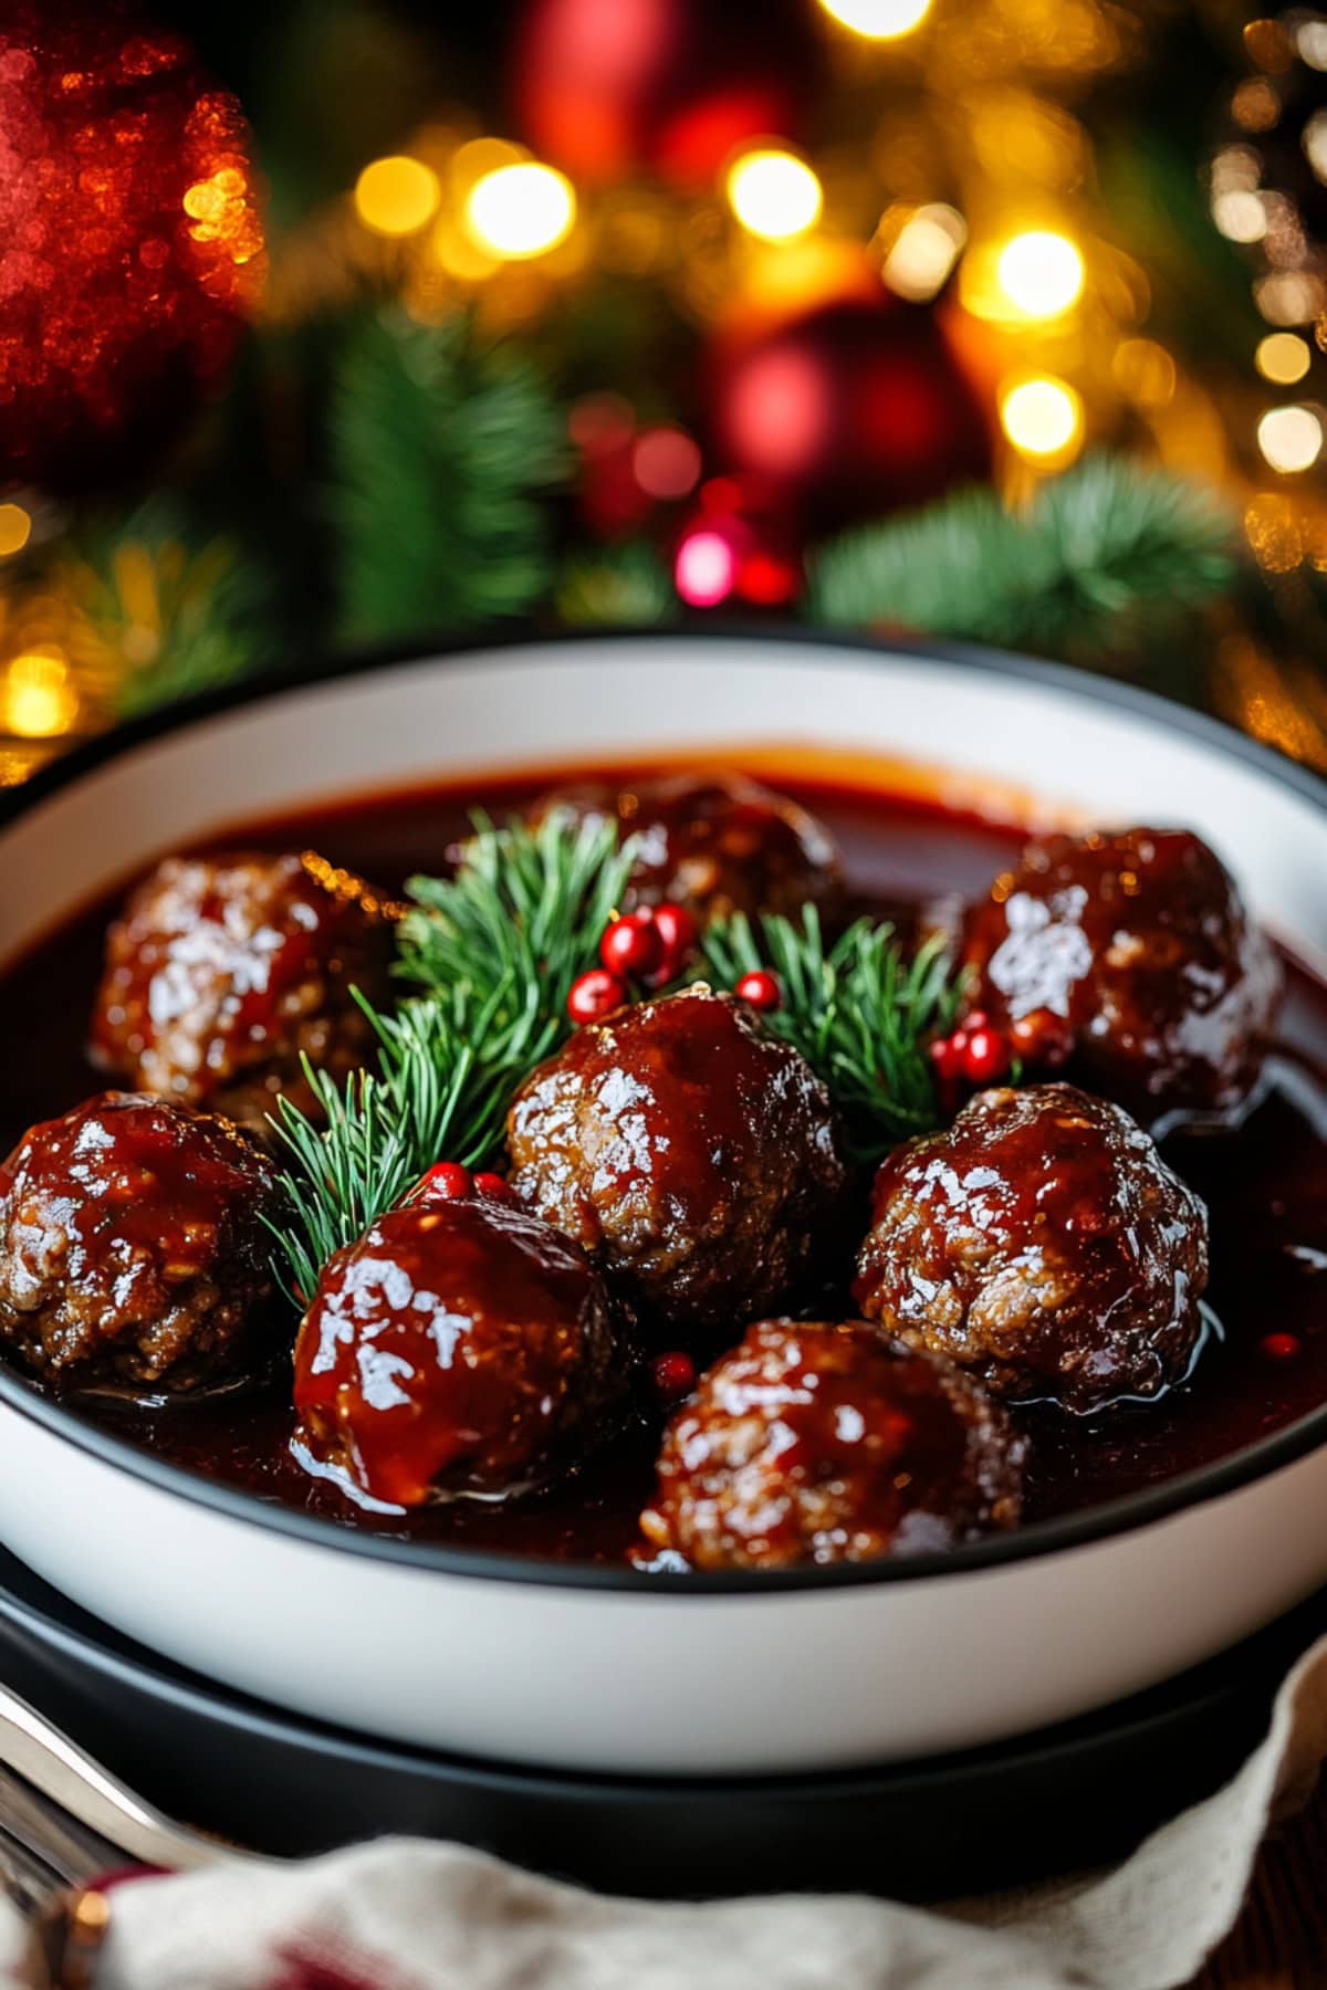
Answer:
[[1017, 1741], [768, 1779], [559, 1775], [374, 1741], [171, 1666], [0, 1550], [0, 1678], [141, 1795], [267, 1853], [460, 1839], [607, 1892], [943, 1898], [1090, 1867], [1218, 1789], [1327, 1590], [1148, 1693]]

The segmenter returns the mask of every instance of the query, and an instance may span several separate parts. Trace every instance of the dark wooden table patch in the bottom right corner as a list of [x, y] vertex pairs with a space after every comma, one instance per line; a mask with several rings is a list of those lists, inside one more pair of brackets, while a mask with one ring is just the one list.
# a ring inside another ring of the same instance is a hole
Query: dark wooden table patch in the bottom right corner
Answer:
[[1327, 1990], [1327, 1777], [1263, 1847], [1243, 1914], [1192, 1990]]

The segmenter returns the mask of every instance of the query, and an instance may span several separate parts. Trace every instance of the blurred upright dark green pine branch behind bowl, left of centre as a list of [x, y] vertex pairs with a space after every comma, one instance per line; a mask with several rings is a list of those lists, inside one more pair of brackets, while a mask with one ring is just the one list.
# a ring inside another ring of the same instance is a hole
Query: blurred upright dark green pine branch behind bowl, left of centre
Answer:
[[537, 498], [571, 458], [561, 410], [513, 348], [460, 318], [374, 316], [338, 366], [330, 452], [348, 639], [477, 627], [549, 593]]

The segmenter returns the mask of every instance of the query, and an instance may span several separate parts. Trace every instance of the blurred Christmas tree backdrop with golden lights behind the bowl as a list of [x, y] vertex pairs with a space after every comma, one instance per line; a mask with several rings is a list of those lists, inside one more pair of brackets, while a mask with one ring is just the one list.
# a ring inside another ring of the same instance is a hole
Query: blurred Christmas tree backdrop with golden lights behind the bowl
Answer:
[[682, 609], [1327, 762], [1327, 14], [58, 12], [0, 0], [0, 780], [328, 647]]

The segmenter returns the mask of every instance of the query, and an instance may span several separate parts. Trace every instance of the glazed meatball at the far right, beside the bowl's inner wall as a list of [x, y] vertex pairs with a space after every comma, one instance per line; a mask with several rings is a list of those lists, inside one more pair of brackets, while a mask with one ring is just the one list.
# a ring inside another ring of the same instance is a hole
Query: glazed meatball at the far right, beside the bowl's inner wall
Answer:
[[1188, 830], [1029, 844], [969, 913], [963, 959], [1033, 1067], [1070, 1061], [1144, 1124], [1237, 1106], [1281, 995], [1235, 882]]

